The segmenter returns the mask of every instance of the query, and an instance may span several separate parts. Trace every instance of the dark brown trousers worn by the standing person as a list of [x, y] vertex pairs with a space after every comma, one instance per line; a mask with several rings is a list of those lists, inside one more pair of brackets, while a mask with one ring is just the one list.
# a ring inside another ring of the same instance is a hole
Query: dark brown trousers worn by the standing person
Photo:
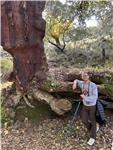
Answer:
[[96, 106], [84, 106], [82, 108], [82, 121], [90, 132], [90, 137], [96, 139]]

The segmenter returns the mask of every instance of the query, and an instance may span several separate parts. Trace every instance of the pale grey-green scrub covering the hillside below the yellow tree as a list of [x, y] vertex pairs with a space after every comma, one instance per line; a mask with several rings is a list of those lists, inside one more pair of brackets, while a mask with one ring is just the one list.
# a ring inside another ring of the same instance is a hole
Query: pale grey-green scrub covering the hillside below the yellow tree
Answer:
[[[111, 41], [111, 42], [110, 42]], [[99, 46], [101, 41], [96, 38], [86, 38], [84, 40], [78, 40], [75, 42], [68, 43], [65, 53], [58, 54], [53, 47], [46, 49], [46, 55], [48, 63], [51, 65], [65, 66], [65, 67], [97, 67], [103, 68], [102, 64], [102, 48]], [[104, 68], [111, 69], [113, 68], [113, 51], [111, 45], [112, 39], [106, 41], [106, 62]], [[98, 45], [98, 46], [97, 46]], [[113, 69], [112, 69], [113, 70]]]

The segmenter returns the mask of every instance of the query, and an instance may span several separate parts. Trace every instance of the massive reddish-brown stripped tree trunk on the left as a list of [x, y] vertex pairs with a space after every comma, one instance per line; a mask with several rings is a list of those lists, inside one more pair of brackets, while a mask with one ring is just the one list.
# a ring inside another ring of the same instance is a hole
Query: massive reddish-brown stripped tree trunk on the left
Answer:
[[10, 79], [26, 91], [33, 77], [46, 78], [47, 63], [43, 38], [45, 1], [6, 1], [1, 7], [3, 48], [13, 56], [14, 70]]

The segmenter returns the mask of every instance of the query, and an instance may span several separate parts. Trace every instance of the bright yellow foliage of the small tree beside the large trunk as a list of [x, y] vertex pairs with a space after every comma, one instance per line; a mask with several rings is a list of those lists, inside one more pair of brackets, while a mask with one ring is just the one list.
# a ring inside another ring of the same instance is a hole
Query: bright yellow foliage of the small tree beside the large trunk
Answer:
[[57, 16], [56, 18], [52, 18], [51, 16], [51, 21], [47, 24], [45, 39], [55, 41], [56, 44], [62, 45], [64, 36], [70, 32], [72, 26], [73, 22], [71, 20], [62, 19], [62, 16]]

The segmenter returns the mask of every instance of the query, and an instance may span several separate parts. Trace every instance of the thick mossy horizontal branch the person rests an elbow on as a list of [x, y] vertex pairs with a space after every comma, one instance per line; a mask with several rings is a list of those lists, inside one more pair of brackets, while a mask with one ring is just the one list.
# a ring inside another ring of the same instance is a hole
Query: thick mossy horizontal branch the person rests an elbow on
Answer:
[[[76, 89], [73, 91], [72, 89], [73, 82], [55, 82], [47, 80], [43, 84], [40, 85], [40, 89], [47, 92], [75, 92], [80, 93], [80, 89]], [[113, 85], [110, 84], [101, 84], [98, 85], [99, 93], [105, 95], [106, 97], [113, 100]]]

